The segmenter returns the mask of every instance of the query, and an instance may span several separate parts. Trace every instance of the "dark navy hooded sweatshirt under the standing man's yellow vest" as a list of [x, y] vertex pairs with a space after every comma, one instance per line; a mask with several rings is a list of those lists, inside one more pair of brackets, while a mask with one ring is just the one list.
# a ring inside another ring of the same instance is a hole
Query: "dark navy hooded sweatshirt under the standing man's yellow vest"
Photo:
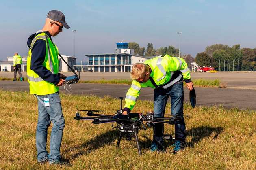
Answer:
[[[33, 38], [35, 38], [35, 36], [40, 33], [41, 32], [32, 34], [28, 38], [27, 45], [29, 49], [31, 48], [31, 42]], [[51, 35], [48, 31], [45, 31], [44, 33], [46, 33], [52, 40]], [[41, 77], [44, 81], [48, 81], [50, 83], [57, 85], [60, 81], [59, 76], [57, 74], [52, 74], [50, 70], [48, 70], [46, 67], [43, 66], [43, 62], [46, 56], [46, 41], [42, 39], [36, 40], [36, 42], [34, 43], [31, 49], [31, 53], [32, 55], [31, 55], [30, 69], [33, 70], [35, 73], [37, 73], [39, 77]]]

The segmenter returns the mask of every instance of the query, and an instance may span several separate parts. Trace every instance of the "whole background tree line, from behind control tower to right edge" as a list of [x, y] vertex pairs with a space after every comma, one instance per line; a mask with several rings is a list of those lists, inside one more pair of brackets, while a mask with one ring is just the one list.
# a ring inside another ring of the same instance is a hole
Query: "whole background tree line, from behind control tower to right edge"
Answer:
[[[174, 46], [160, 47], [154, 49], [152, 43], [148, 43], [147, 49], [145, 47], [140, 47], [138, 43], [130, 42], [128, 44], [130, 49], [134, 49], [135, 55], [140, 56], [158, 56], [158, 55], [171, 55], [173, 57], [179, 56], [179, 49]], [[233, 45], [229, 47], [228, 45], [215, 44], [210, 45], [205, 48], [202, 53], [197, 53], [196, 57], [193, 58], [190, 54], [180, 53], [180, 56], [186, 60], [189, 68], [191, 68], [191, 62], [197, 62], [200, 66], [215, 66], [215, 70], [218, 71], [230, 71], [234, 70], [246, 70], [246, 71], [256, 71], [256, 48], [242, 48], [240, 45]], [[229, 63], [229, 65], [228, 65]]]

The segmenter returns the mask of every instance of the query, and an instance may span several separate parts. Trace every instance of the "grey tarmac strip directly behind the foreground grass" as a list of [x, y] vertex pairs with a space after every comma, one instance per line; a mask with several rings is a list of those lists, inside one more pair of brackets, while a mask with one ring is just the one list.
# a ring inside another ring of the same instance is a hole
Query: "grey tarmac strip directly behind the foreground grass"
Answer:
[[[254, 80], [255, 81], [255, 80]], [[255, 85], [255, 84], [254, 84]], [[112, 96], [113, 98], [125, 97], [130, 85], [110, 84], [84, 84], [72, 85], [71, 94], [94, 94], [98, 96]], [[13, 91], [28, 91], [27, 81], [0, 81], [0, 89]], [[60, 87], [60, 93], [69, 93]], [[222, 105], [226, 108], [236, 107], [239, 109], [256, 110], [256, 90], [239, 88], [195, 88], [197, 94], [197, 106]], [[153, 101], [154, 89], [142, 88], [138, 100]], [[189, 102], [189, 91], [184, 88], [184, 101]]]

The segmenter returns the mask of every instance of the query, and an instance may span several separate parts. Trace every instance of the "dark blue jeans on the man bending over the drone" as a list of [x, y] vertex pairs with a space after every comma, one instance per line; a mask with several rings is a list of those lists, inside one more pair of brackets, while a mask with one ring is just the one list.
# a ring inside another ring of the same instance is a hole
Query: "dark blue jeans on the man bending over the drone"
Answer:
[[[171, 114], [183, 115], [183, 81], [179, 81], [167, 89], [157, 88], [154, 90], [154, 117], [163, 117], [167, 100], [171, 96]], [[184, 117], [175, 120], [175, 140], [185, 142], [186, 127]], [[155, 123], [153, 142], [163, 145], [164, 125]]]

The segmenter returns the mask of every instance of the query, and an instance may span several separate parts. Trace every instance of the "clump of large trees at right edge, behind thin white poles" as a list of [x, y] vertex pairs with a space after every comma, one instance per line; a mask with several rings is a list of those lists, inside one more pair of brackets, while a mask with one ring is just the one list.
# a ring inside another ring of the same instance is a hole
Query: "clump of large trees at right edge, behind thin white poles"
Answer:
[[242, 48], [240, 45], [215, 44], [198, 53], [195, 62], [200, 66], [215, 66], [218, 71], [256, 71], [256, 49]]

